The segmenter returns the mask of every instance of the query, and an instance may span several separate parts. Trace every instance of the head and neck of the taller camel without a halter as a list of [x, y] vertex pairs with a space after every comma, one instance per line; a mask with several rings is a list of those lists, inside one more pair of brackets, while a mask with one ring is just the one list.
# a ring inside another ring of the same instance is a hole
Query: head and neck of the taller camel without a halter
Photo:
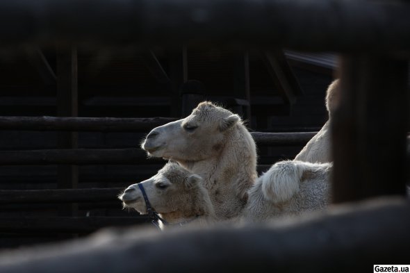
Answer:
[[142, 149], [204, 179], [216, 215], [239, 215], [256, 181], [256, 147], [238, 115], [204, 101], [191, 115], [153, 129]]

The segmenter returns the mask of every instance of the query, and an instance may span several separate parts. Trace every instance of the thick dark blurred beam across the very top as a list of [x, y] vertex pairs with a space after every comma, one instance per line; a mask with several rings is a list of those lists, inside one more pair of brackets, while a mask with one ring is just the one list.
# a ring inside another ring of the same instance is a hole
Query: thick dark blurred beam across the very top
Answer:
[[405, 1], [9, 0], [0, 1], [0, 36], [3, 45], [206, 41], [385, 51], [410, 49], [409, 14]]

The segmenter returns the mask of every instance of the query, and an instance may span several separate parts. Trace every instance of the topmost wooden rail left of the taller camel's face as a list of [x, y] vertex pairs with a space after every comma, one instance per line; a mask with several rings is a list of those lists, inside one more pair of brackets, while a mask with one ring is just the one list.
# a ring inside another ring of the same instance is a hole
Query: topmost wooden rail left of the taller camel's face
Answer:
[[0, 130], [149, 132], [172, 117], [0, 117]]

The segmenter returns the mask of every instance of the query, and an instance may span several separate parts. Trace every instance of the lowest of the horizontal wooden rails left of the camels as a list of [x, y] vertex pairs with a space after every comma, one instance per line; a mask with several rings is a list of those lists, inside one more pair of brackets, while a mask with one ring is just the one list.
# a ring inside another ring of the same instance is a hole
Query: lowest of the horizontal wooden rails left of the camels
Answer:
[[138, 213], [135, 217], [0, 217], [0, 232], [89, 233], [107, 226], [131, 226], [147, 220]]

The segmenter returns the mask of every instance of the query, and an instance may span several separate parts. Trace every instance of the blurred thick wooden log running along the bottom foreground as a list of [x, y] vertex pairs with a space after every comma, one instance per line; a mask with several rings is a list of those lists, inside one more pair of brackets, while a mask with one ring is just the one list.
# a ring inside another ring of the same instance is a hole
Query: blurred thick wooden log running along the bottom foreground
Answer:
[[[365, 272], [409, 259], [410, 204], [372, 201], [277, 224], [111, 230], [0, 254], [0, 272]], [[161, 258], [158, 258], [161, 257]]]

